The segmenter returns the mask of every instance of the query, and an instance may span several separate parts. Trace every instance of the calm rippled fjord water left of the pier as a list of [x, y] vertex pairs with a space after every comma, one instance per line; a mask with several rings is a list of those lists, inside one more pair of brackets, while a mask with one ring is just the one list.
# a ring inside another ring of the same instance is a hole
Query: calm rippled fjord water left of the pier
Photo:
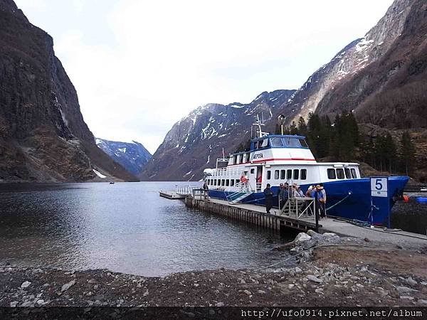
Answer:
[[159, 197], [175, 185], [0, 184], [0, 261], [159, 276], [280, 260], [289, 239]]

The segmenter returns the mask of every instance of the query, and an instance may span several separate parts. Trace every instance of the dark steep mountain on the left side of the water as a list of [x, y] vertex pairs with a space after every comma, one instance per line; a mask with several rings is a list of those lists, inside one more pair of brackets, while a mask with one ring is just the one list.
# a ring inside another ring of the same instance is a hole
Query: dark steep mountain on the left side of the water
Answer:
[[0, 80], [0, 181], [137, 181], [97, 148], [53, 39], [12, 0], [0, 0]]

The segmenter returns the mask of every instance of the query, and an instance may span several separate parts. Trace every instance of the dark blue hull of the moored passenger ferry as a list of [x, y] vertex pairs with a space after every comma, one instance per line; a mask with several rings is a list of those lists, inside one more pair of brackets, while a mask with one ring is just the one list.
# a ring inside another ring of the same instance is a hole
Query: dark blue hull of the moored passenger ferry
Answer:
[[[408, 179], [407, 176], [389, 177], [388, 193], [384, 198], [371, 198], [370, 178], [325, 182], [323, 185], [327, 192], [327, 215], [367, 221], [375, 225], [387, 225], [391, 208], [394, 205], [393, 198], [404, 192]], [[301, 185], [302, 191], [307, 191], [309, 186]], [[275, 195], [278, 194], [278, 188], [278, 186], [272, 187]], [[224, 200], [230, 200], [232, 193], [209, 190], [211, 198]], [[371, 210], [371, 199], [373, 199], [376, 209]], [[241, 202], [264, 206], [264, 194], [262, 192], [253, 193]], [[273, 203], [276, 207], [278, 206], [278, 196], [273, 198]]]

